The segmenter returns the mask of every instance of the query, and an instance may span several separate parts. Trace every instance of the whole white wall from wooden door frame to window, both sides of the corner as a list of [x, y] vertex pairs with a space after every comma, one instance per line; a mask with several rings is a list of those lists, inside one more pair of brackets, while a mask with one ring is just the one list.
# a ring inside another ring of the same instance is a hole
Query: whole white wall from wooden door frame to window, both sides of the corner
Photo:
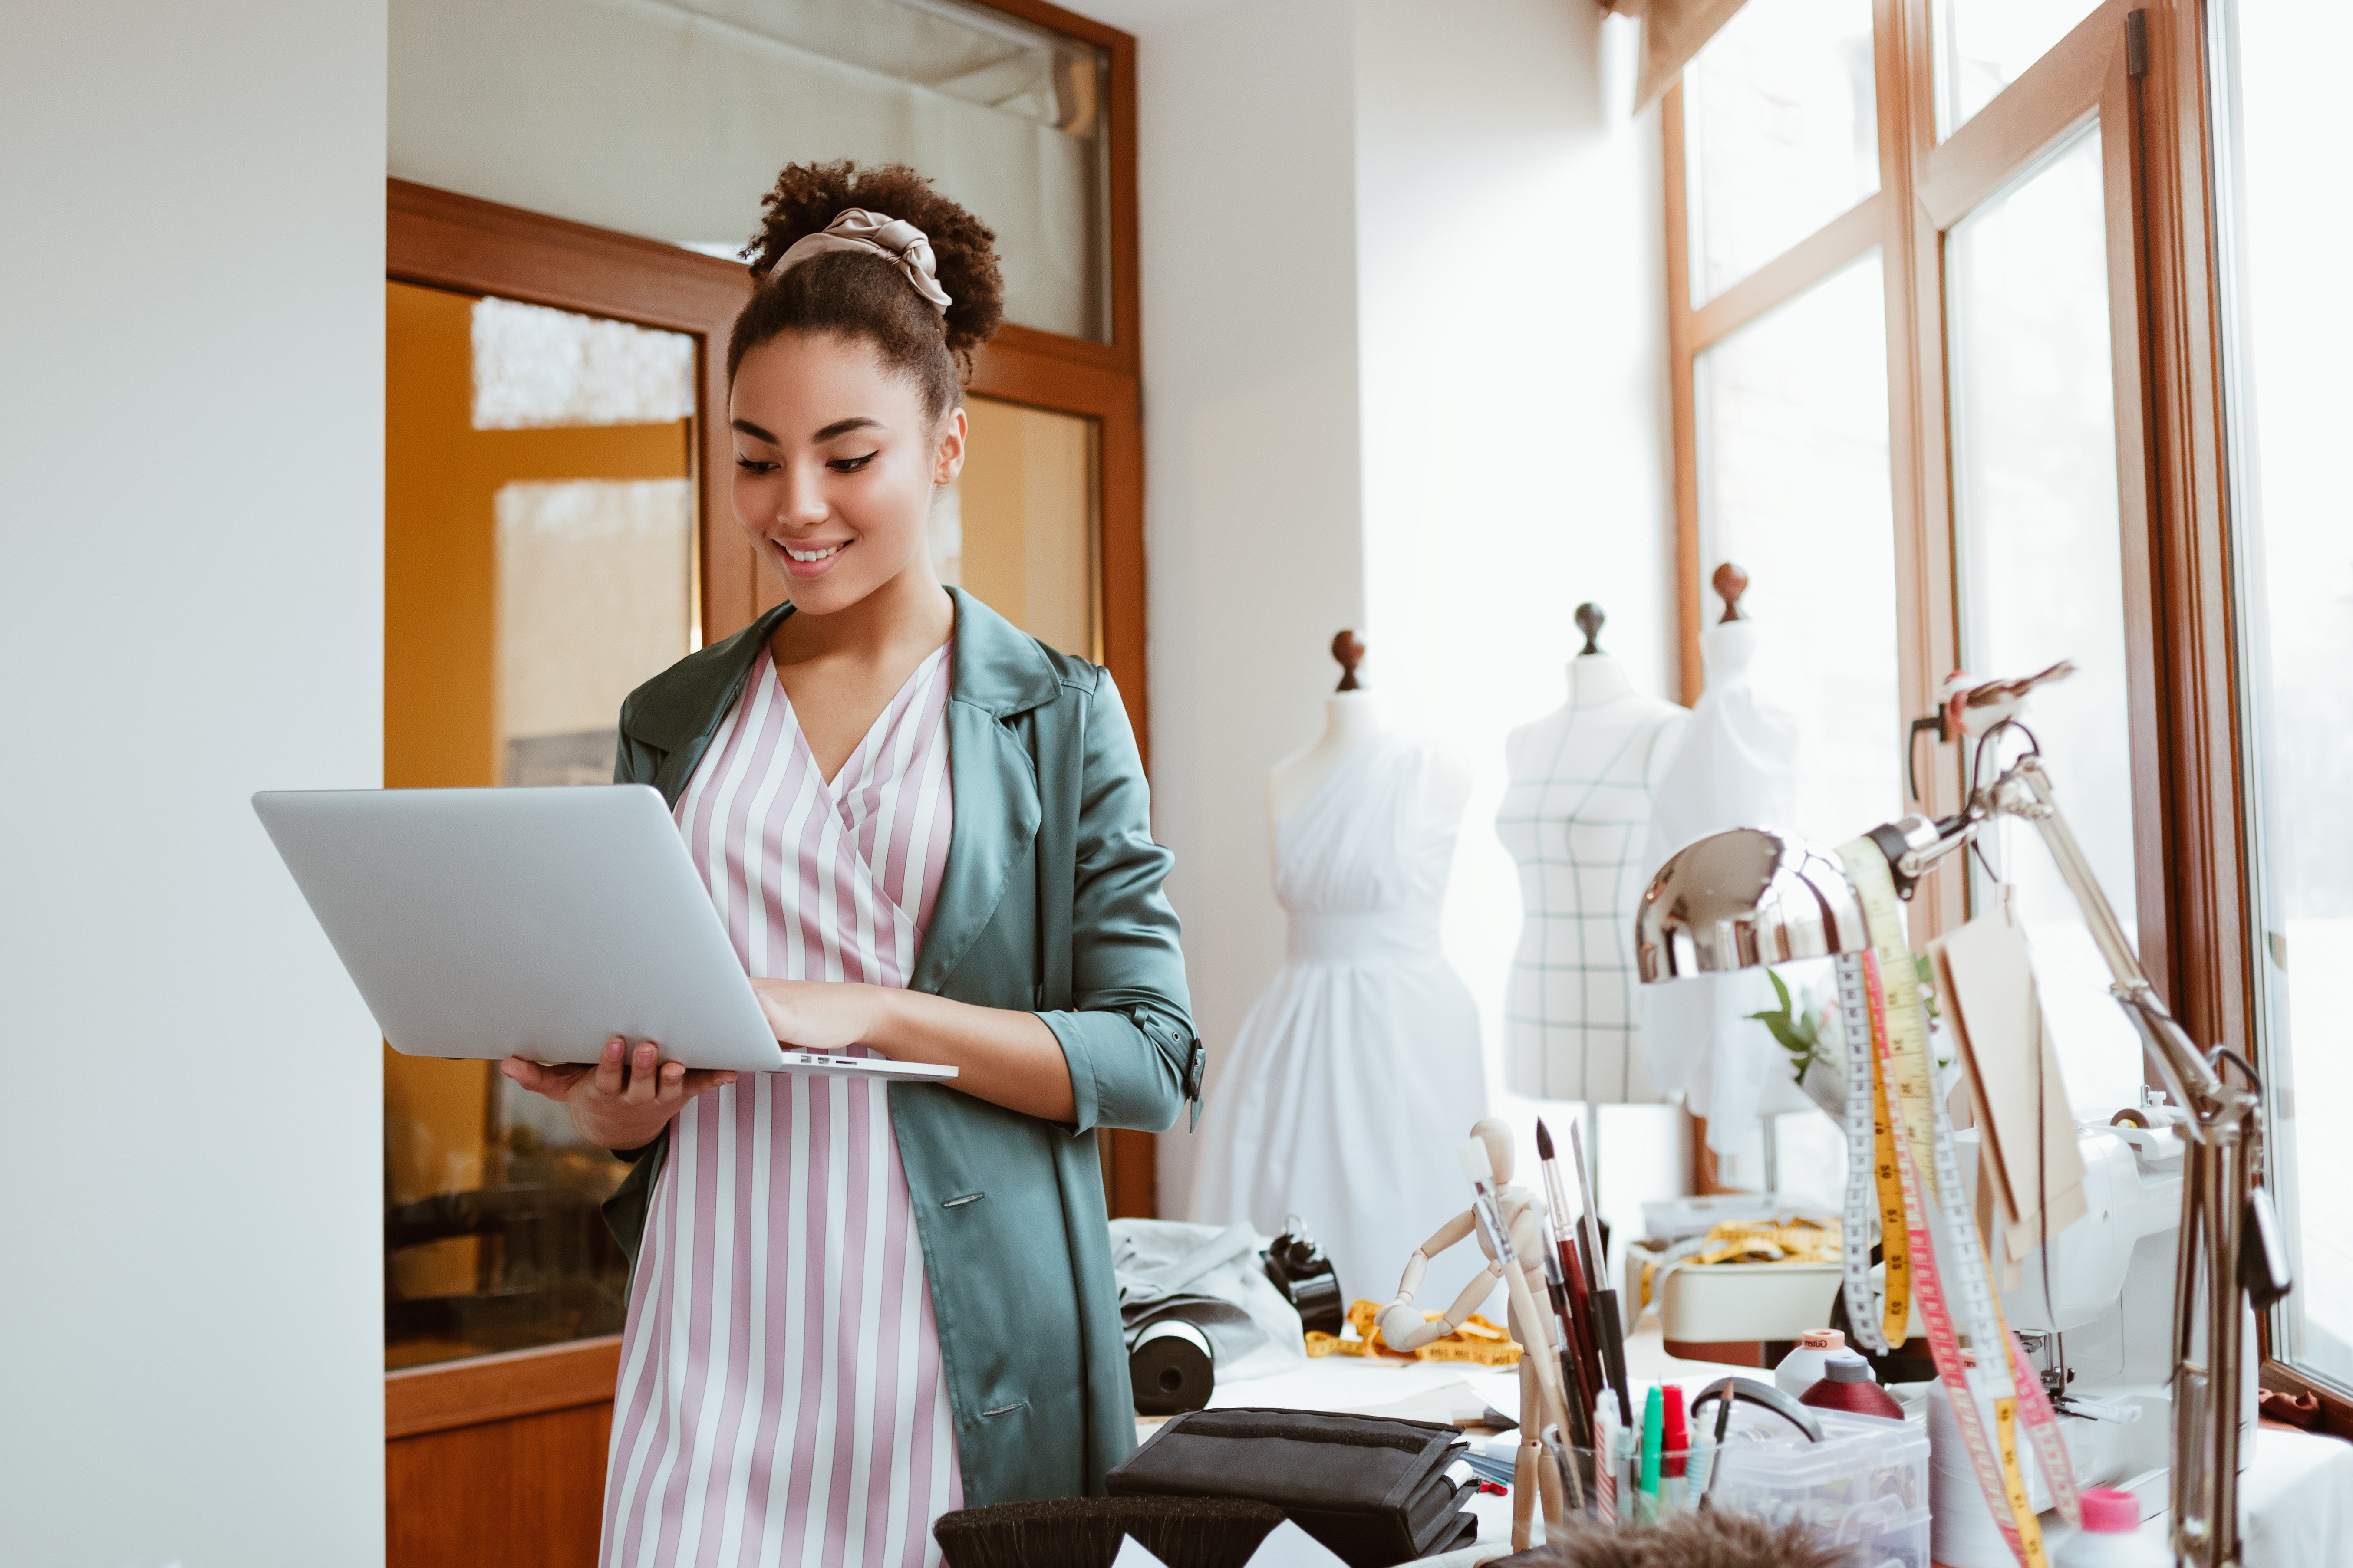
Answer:
[[[1492, 1053], [1520, 924], [1504, 733], [1562, 701], [1581, 599], [1635, 679], [1675, 684], [1633, 28], [1586, 0], [1082, 9], [1139, 40], [1153, 802], [1212, 1084], [1282, 961], [1266, 771], [1315, 738], [1344, 625], [1473, 764], [1445, 933]], [[1612, 1112], [1602, 1145], [1614, 1218], [1682, 1190], [1678, 1112]], [[1191, 1180], [1191, 1138], [1162, 1138], [1162, 1213]]]

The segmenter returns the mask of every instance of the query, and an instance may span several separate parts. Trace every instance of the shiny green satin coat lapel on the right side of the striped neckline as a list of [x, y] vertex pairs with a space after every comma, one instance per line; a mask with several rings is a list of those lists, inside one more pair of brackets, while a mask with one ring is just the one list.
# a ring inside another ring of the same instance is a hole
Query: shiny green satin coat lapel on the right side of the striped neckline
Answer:
[[955, 668], [948, 677], [955, 832], [932, 924], [908, 976], [908, 990], [925, 992], [936, 992], [972, 952], [1038, 837], [1038, 766], [1007, 719], [1052, 701], [1056, 691], [1054, 670], [1033, 637], [965, 590], [948, 592], [955, 597]]

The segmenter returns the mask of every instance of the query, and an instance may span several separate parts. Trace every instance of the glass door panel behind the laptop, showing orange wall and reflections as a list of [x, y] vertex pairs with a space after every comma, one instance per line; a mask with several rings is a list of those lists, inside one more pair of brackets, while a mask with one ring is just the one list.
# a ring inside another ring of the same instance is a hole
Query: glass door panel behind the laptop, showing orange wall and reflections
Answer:
[[[696, 642], [694, 339], [386, 284], [384, 783], [609, 783]], [[384, 1051], [386, 1366], [621, 1328], [626, 1166], [489, 1063]]]

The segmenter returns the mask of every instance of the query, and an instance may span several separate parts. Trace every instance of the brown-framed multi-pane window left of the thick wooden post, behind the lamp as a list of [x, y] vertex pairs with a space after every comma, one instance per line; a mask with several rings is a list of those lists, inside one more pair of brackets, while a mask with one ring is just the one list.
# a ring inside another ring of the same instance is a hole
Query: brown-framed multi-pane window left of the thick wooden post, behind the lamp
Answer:
[[[2162, 750], [2188, 731], [2160, 710], [2137, 247], [2151, 214], [2174, 212], [2141, 141], [2162, 146], [2169, 115], [2198, 106], [2195, 92], [2151, 96], [2151, 59], [2179, 59], [2179, 26], [2151, 14], [1748, 0], [1666, 99], [1668, 329], [1685, 696], [1699, 696], [1701, 583], [1734, 559], [1779, 665], [1772, 689], [1805, 726], [1800, 827], [1838, 844], [1960, 806], [1974, 759], [1932, 717], [1948, 672], [2073, 661], [2033, 729], [2181, 1009], [2200, 969], [2181, 943], [2205, 952], [2212, 926], [2169, 914], [2195, 867], [2167, 877], [2179, 804]], [[1984, 849], [1922, 884], [1913, 936], [1958, 926], [2007, 884], [2068, 1098], [2106, 1119], [2141, 1091], [2108, 973], [2038, 837], [2002, 825]], [[2228, 1009], [2193, 1001], [2226, 1039]], [[1769, 1178], [1753, 1157], [1718, 1175]], [[1779, 1178], [1840, 1185], [1828, 1164], [1784, 1161]]]

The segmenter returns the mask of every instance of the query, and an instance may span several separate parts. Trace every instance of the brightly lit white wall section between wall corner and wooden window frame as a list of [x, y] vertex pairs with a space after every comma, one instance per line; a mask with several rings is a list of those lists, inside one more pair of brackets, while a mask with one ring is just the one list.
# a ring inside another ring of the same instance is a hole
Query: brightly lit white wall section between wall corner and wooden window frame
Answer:
[[[1659, 115], [1628, 115], [1635, 26], [1584, 0], [1487, 0], [1478, 24], [1355, 5], [1365, 581], [1384, 689], [1473, 769], [1447, 957], [1480, 1004], [1494, 1114], [1520, 879], [1494, 835], [1504, 736], [1602, 644], [1675, 696], [1673, 463]], [[1602, 1112], [1602, 1211], [1685, 1190], [1675, 1107]], [[1593, 1128], [1586, 1128], [1588, 1143]]]

